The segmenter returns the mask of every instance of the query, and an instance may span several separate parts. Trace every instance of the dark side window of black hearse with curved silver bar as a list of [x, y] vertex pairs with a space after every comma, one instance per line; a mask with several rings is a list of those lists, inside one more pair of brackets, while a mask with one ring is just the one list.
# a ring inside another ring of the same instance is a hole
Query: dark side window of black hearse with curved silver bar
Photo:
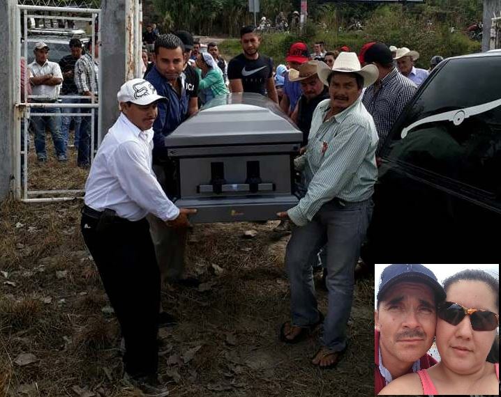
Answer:
[[499, 70], [501, 56], [450, 60], [399, 120], [384, 157], [480, 189], [499, 202]]

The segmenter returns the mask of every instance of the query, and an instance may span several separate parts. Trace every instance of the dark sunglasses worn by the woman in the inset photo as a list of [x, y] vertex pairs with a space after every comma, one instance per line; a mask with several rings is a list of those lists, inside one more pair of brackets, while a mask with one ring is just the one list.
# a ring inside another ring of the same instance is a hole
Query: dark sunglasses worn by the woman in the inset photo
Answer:
[[493, 331], [499, 325], [499, 315], [492, 311], [468, 309], [454, 302], [438, 304], [438, 317], [451, 325], [458, 325], [466, 315], [470, 316], [474, 331]]

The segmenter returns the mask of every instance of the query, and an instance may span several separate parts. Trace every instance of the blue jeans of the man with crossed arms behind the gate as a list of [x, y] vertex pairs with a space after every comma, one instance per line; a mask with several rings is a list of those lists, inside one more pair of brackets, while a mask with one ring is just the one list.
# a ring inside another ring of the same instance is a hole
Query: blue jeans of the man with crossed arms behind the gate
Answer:
[[37, 113], [54, 113], [60, 114], [59, 107], [47, 108], [31, 108], [31, 125], [35, 132], [35, 150], [38, 159], [47, 159], [47, 151], [45, 150], [45, 130], [50, 130], [52, 134], [52, 141], [56, 149], [57, 157], [66, 158], [66, 145], [64, 143], [63, 135], [61, 134], [61, 120], [59, 116], [36, 116]]

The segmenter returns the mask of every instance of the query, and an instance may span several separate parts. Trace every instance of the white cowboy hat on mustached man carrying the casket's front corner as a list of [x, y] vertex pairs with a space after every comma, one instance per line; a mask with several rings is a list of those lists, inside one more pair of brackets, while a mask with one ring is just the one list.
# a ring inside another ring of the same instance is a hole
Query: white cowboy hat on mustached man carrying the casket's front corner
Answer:
[[329, 75], [332, 72], [357, 73], [364, 77], [364, 87], [373, 84], [379, 77], [379, 70], [376, 65], [366, 65], [361, 68], [360, 61], [354, 52], [341, 52], [334, 61], [332, 69], [324, 62], [319, 62], [317, 65], [317, 75], [320, 81], [326, 86], [329, 86]]

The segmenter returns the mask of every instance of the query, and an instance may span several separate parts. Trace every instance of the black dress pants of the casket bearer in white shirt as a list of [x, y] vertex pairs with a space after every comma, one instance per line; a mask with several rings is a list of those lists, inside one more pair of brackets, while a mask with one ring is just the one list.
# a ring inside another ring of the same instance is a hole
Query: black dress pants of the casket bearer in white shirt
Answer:
[[125, 370], [134, 377], [158, 369], [160, 273], [146, 219], [115, 218], [102, 230], [83, 214], [80, 227], [125, 340]]

